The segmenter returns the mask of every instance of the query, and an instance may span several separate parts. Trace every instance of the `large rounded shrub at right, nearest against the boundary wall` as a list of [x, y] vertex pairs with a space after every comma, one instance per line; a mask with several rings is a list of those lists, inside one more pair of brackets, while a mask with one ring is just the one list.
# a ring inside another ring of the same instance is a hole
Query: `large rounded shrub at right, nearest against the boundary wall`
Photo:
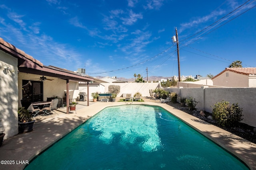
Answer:
[[238, 106], [238, 103], [230, 106], [229, 102], [222, 100], [215, 103], [212, 109], [212, 118], [224, 127], [236, 125], [242, 121], [242, 116], [242, 108]]

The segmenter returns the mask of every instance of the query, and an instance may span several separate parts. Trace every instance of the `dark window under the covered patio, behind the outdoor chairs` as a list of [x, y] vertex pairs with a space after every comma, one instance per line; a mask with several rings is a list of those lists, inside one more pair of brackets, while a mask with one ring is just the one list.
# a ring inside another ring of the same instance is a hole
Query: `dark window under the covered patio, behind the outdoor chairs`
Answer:
[[28, 102], [43, 101], [43, 82], [22, 80], [22, 100]]

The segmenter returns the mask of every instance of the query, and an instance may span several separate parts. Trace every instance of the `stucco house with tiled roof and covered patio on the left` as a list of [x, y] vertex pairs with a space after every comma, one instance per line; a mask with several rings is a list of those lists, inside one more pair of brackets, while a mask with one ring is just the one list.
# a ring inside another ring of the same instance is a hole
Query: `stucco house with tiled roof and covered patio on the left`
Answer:
[[[45, 101], [48, 97], [70, 96], [78, 90], [78, 82], [94, 78], [54, 67], [44, 66], [40, 61], [17, 49], [0, 38], [0, 123], [4, 126], [5, 139], [18, 133], [18, 107], [21, 100]], [[71, 97], [72, 98], [72, 97]], [[67, 113], [69, 98], [66, 98]]]

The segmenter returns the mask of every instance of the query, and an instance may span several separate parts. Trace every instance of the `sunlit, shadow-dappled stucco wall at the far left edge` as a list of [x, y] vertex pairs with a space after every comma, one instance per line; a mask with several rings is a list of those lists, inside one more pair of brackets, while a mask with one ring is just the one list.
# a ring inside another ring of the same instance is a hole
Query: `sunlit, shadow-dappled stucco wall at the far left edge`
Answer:
[[[7, 66], [13, 70], [4, 69]], [[18, 133], [18, 59], [0, 51], [0, 123], [4, 139]]]

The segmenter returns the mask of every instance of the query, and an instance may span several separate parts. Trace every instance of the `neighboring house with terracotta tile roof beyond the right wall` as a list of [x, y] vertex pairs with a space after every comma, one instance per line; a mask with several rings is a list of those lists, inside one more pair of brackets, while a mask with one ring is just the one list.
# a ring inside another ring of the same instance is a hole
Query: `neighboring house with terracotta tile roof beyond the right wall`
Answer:
[[256, 68], [226, 68], [212, 81], [214, 86], [256, 87]]

